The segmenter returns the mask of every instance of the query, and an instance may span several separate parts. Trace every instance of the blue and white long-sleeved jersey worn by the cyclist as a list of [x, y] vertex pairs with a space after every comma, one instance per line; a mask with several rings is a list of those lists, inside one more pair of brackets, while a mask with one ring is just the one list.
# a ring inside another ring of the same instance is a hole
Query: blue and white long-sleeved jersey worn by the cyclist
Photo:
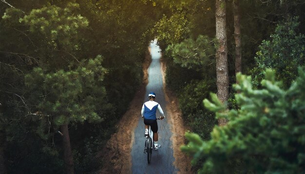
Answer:
[[164, 112], [160, 106], [155, 101], [145, 102], [142, 106], [141, 114], [145, 120], [156, 120], [156, 111], [159, 110], [160, 114], [164, 117]]

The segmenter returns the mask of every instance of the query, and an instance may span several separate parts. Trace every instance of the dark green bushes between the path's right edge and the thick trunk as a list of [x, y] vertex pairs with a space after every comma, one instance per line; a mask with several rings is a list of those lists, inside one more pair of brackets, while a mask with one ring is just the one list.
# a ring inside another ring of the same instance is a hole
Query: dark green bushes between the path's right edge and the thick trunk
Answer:
[[198, 80], [202, 79], [202, 71], [182, 68], [169, 61], [166, 69], [166, 83], [178, 93], [179, 107], [191, 131], [198, 133], [204, 139], [210, 139], [210, 131], [216, 124], [216, 120], [214, 114], [202, 107], [202, 98], [207, 97], [210, 91], [215, 91], [216, 84], [212, 75], [206, 78], [208, 80]]

